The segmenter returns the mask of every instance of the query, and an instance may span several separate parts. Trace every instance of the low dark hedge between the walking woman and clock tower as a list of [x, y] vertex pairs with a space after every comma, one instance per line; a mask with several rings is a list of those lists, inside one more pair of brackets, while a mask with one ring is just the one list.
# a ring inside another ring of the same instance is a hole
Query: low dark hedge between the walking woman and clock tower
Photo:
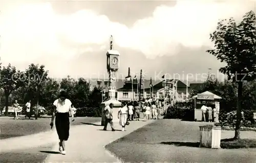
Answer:
[[76, 117], [101, 117], [100, 107], [81, 107], [76, 110]]

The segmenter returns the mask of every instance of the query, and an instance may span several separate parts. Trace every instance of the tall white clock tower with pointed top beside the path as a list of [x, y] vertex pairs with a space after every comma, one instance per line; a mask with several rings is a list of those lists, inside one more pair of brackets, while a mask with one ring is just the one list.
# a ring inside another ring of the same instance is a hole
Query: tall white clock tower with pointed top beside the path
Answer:
[[106, 105], [113, 103], [113, 122], [119, 122], [117, 118], [119, 107], [121, 106], [121, 102], [116, 99], [116, 72], [119, 69], [119, 52], [117, 50], [113, 50], [113, 37], [111, 35], [110, 38], [110, 50], [106, 52], [106, 69], [109, 73], [109, 87], [108, 87], [108, 101], [104, 101], [101, 103], [102, 108], [102, 118], [101, 125], [105, 123], [105, 115], [104, 108]]

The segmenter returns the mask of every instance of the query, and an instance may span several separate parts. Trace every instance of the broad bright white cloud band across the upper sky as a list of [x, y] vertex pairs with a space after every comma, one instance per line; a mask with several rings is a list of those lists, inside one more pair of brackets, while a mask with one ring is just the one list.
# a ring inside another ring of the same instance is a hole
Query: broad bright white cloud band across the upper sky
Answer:
[[177, 1], [173, 7], [158, 6], [151, 17], [128, 28], [91, 10], [58, 15], [50, 3], [25, 4], [2, 13], [1, 58], [8, 63], [34, 61], [41, 56], [69, 60], [81, 52], [105, 51], [110, 35], [114, 36], [114, 47], [138, 50], [147, 58], [175, 55], [179, 45], [210, 46], [209, 33], [218, 20], [241, 18], [249, 6], [243, 1]]

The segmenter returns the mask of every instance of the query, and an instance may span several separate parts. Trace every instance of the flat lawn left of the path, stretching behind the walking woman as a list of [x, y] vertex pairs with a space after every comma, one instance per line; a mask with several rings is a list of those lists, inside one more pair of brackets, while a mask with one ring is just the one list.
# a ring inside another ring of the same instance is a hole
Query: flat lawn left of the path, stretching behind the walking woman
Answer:
[[[80, 125], [83, 123], [94, 123], [100, 121], [101, 118], [94, 117], [76, 117], [71, 125]], [[0, 117], [0, 139], [7, 139], [11, 137], [19, 137], [23, 135], [34, 134], [38, 132], [50, 130], [50, 117], [38, 118], [37, 120], [25, 119], [21, 117], [14, 120], [13, 117]]]

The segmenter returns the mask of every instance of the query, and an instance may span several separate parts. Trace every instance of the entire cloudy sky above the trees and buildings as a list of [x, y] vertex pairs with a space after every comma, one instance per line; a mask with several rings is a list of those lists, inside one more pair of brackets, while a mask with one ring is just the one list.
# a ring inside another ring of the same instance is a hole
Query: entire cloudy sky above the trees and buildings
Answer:
[[208, 68], [217, 73], [224, 64], [205, 52], [212, 47], [209, 33], [219, 19], [240, 20], [254, 6], [245, 0], [1, 0], [1, 62], [20, 70], [44, 64], [53, 77], [104, 77], [113, 35], [119, 74], [126, 75], [128, 67], [153, 79]]

